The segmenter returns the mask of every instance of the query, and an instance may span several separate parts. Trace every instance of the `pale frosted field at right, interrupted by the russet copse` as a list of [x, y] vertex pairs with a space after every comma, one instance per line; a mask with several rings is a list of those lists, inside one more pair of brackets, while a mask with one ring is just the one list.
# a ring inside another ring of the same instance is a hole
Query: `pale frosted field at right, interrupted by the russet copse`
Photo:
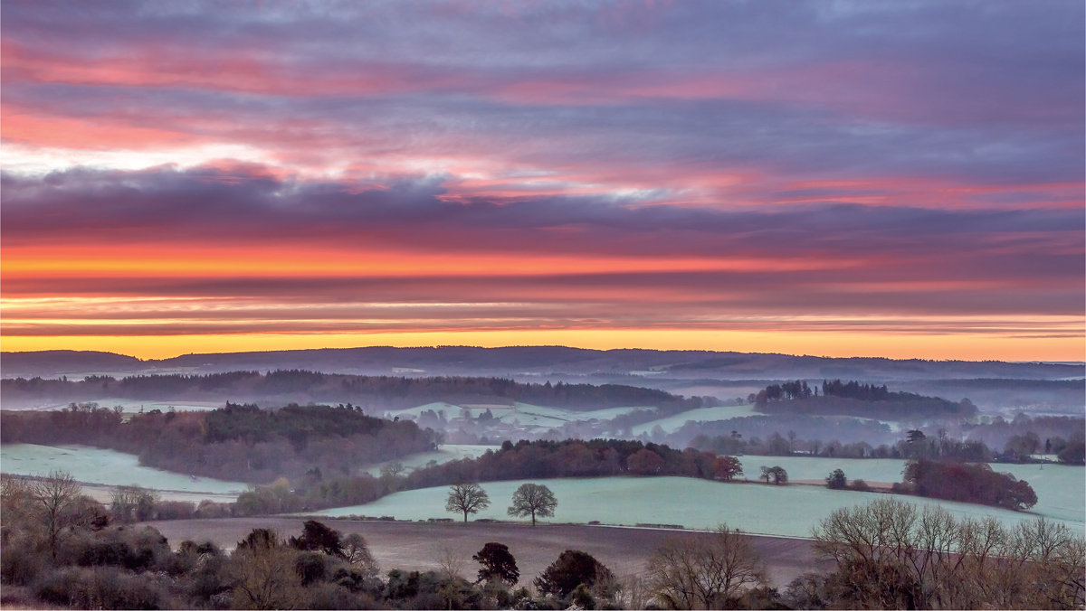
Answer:
[[[810, 458], [796, 456], [742, 456], [748, 479], [756, 479], [760, 467], [783, 467], [791, 480], [823, 480], [841, 469], [849, 480], [900, 482], [905, 461], [897, 459]], [[1033, 512], [1049, 518], [1086, 524], [1086, 468], [1066, 464], [1008, 464], [993, 462], [993, 471], [1010, 473], [1030, 482], [1037, 493]]]

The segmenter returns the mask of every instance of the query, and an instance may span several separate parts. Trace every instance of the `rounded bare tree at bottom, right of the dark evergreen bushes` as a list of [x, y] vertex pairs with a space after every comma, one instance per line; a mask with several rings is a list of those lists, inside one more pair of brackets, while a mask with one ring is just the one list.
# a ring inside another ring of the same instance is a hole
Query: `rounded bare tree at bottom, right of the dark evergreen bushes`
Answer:
[[709, 537], [667, 539], [648, 560], [656, 600], [670, 609], [714, 609], [768, 581], [750, 539], [727, 525]]

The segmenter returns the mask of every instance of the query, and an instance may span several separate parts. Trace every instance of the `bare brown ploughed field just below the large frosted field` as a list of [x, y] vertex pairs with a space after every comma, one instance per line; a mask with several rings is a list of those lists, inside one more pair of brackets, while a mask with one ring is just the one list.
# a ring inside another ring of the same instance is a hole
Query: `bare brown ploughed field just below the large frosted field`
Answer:
[[[211, 539], [232, 548], [253, 529], [274, 529], [281, 536], [300, 534], [303, 518], [229, 518], [148, 522], [175, 548], [185, 539]], [[641, 573], [649, 555], [668, 537], [705, 537], [707, 533], [664, 529], [588, 526], [573, 524], [525, 524], [463, 522], [369, 522], [321, 520], [342, 534], [366, 538], [382, 571], [438, 570], [438, 557], [451, 548], [464, 561], [464, 574], [473, 577], [478, 565], [471, 556], [490, 542], [505, 544], [517, 559], [521, 583], [528, 583], [567, 549], [596, 557], [616, 575]], [[808, 539], [750, 535], [754, 547], [769, 568], [775, 587], [783, 587], [805, 571], [818, 569]]]

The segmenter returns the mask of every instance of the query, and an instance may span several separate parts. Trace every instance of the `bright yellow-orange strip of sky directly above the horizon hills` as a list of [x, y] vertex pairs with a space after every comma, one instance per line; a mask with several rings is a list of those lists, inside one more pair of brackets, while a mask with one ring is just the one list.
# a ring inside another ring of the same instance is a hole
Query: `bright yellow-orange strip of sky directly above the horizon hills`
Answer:
[[182, 354], [265, 352], [361, 346], [564, 345], [592, 349], [645, 348], [778, 353], [828, 357], [871, 356], [930, 360], [1086, 360], [1082, 338], [995, 338], [707, 330], [526, 330], [428, 333], [235, 334], [171, 336], [4, 336], [4, 352], [103, 351], [141, 359]]

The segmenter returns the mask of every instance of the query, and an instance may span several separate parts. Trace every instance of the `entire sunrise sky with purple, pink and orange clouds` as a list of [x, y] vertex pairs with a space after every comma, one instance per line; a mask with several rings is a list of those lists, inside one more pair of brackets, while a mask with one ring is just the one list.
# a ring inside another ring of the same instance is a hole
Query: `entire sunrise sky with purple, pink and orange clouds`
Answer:
[[0, 8], [0, 348], [1084, 360], [1086, 9]]

